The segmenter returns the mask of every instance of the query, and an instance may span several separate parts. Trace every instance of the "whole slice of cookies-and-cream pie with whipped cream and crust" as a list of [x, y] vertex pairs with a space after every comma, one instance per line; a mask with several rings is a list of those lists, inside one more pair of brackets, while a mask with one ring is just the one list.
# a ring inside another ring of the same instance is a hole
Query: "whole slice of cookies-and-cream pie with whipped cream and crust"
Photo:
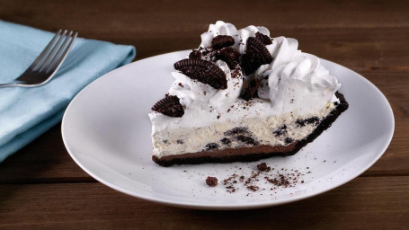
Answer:
[[348, 109], [341, 84], [297, 40], [216, 22], [201, 41], [174, 63], [174, 82], [149, 113], [157, 164], [294, 155]]

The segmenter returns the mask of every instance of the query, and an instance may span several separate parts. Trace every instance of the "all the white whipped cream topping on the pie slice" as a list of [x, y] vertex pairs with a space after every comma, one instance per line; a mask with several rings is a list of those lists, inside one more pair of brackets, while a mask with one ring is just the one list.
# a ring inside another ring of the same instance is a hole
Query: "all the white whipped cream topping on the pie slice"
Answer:
[[[210, 24], [209, 31], [201, 35], [201, 49], [211, 47], [211, 40], [218, 35], [235, 38], [234, 47], [245, 53], [246, 40], [256, 32], [270, 36], [265, 27], [248, 26], [241, 30], [231, 23], [218, 21]], [[289, 112], [300, 117], [324, 117], [339, 102], [334, 95], [341, 86], [314, 55], [298, 50], [298, 41], [285, 37], [272, 39], [266, 48], [273, 61], [260, 66], [253, 75], [243, 75], [231, 70], [218, 60], [215, 64], [227, 75], [227, 89], [218, 90], [202, 84], [180, 72], [173, 72], [170, 95], [179, 97], [184, 108], [182, 118], [167, 117], [158, 112], [149, 113], [153, 134], [166, 128], [200, 128], [214, 122], [226, 122], [259, 116], [287, 116]], [[259, 98], [249, 102], [239, 98], [245, 80], [257, 78]], [[324, 109], [323, 109], [324, 108]]]

